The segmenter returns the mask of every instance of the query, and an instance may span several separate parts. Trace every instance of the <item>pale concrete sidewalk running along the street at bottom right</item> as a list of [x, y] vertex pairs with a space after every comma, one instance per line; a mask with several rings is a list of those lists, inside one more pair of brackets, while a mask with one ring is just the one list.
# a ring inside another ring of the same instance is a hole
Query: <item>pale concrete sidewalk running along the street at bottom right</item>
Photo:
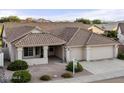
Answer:
[[71, 79], [54, 80], [54, 81], [49, 81], [48, 83], [88, 83], [88, 82], [94, 82], [99, 80], [117, 78], [120, 76], [124, 76], [124, 70], [109, 72], [104, 74], [81, 76], [81, 77], [71, 78]]

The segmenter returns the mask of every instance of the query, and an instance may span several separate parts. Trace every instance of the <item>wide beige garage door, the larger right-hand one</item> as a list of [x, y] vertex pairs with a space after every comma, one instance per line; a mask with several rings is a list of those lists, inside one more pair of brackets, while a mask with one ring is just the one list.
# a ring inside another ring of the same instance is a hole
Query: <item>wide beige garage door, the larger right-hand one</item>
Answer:
[[92, 47], [90, 50], [90, 60], [113, 58], [113, 46]]

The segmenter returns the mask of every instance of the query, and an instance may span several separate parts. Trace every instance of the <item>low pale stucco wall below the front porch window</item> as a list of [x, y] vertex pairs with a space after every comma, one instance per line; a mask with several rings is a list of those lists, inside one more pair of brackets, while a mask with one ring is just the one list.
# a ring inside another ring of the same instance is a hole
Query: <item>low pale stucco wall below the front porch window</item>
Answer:
[[28, 65], [39, 65], [39, 64], [48, 64], [47, 58], [30, 58], [22, 59], [28, 63]]

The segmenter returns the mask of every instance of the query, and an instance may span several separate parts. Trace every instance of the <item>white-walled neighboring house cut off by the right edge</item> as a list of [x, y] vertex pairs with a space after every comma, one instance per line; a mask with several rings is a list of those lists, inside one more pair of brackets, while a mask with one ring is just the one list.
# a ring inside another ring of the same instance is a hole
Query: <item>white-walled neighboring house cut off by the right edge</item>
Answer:
[[117, 37], [119, 42], [124, 45], [124, 23], [119, 23], [117, 28]]

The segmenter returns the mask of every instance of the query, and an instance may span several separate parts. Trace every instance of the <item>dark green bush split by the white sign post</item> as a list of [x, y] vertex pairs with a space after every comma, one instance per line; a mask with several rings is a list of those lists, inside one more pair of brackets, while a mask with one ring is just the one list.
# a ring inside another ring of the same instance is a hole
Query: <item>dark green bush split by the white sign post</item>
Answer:
[[[66, 66], [66, 70], [73, 72], [73, 62], [68, 63], [68, 65]], [[83, 67], [79, 62], [77, 62], [77, 66], [75, 66], [75, 72], [81, 72], [81, 71], [83, 71]]]

